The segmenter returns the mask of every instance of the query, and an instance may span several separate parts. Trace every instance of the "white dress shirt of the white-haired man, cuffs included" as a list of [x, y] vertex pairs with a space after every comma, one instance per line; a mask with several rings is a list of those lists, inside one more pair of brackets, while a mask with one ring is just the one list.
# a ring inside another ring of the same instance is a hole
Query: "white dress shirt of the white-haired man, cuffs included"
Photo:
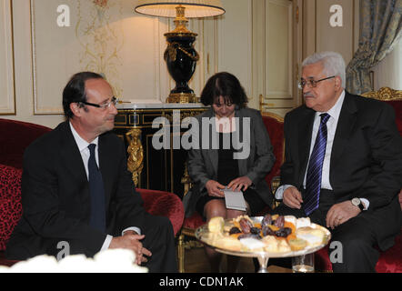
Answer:
[[[327, 147], [326, 147], [326, 156], [324, 157], [323, 168], [322, 168], [321, 189], [333, 190], [331, 183], [329, 182], [331, 152], [332, 152], [332, 146], [334, 144], [335, 133], [337, 132], [337, 121], [339, 119], [340, 111], [342, 109], [344, 100], [345, 100], [345, 90], [342, 92], [342, 94], [337, 99], [337, 103], [331, 109], [329, 109], [327, 111], [327, 114], [330, 115], [330, 117], [327, 121]], [[314, 144], [316, 143], [318, 128], [321, 123], [320, 115], [322, 115], [323, 113], [325, 113], [325, 112], [317, 111], [316, 116], [314, 118], [313, 133], [311, 135], [311, 145], [310, 145], [309, 156], [311, 156], [311, 153], [313, 152]], [[308, 164], [307, 164], [307, 168], [308, 168]], [[305, 173], [305, 177], [303, 180], [303, 187], [305, 189], [306, 189], [306, 176], [307, 176], [307, 171]], [[283, 193], [290, 186], [291, 185], [280, 186], [276, 190], [276, 194], [275, 194], [276, 199], [283, 199]], [[365, 209], [367, 209], [369, 206], [368, 200], [365, 198], [361, 198], [361, 200], [364, 202]]]

